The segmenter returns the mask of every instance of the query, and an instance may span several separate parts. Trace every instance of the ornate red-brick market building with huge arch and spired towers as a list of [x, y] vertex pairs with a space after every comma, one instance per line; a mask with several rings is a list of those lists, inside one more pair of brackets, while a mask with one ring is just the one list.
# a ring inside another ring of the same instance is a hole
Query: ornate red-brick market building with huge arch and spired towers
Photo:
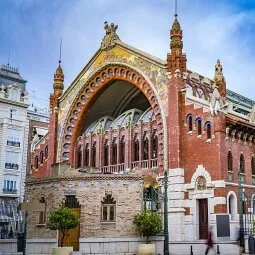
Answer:
[[[167, 171], [170, 250], [203, 243], [209, 226], [233, 248], [238, 179], [254, 192], [255, 102], [227, 89], [219, 60], [212, 78], [187, 68], [177, 17], [166, 60], [121, 41], [118, 26], [104, 28], [99, 50], [65, 91], [61, 63], [54, 75], [49, 131], [32, 154], [26, 183], [26, 199], [45, 202], [46, 214], [29, 214], [29, 242], [42, 249], [56, 243], [44, 224], [64, 202], [80, 214], [69, 240], [76, 250], [102, 254], [109, 243], [121, 243], [113, 254], [133, 254], [139, 242], [132, 239], [133, 216], [144, 207], [163, 213]], [[251, 200], [241, 210], [253, 208]]]

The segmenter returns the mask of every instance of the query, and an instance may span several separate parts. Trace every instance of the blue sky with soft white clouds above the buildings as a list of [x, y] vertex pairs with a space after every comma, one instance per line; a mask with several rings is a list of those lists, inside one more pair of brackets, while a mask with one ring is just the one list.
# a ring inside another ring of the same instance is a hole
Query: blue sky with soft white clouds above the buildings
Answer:
[[[174, 0], [1, 0], [0, 63], [28, 80], [30, 102], [48, 107], [60, 38], [65, 88], [100, 47], [104, 21], [122, 41], [166, 59]], [[255, 100], [255, 1], [178, 0], [188, 69], [210, 78], [219, 58], [227, 88]]]

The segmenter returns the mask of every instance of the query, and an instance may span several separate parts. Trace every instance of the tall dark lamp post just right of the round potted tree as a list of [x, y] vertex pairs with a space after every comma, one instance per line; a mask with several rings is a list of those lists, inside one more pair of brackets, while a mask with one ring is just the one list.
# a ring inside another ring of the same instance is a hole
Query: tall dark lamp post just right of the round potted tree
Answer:
[[168, 186], [168, 177], [167, 177], [167, 170], [165, 170], [164, 171], [164, 255], [169, 255], [167, 186]]

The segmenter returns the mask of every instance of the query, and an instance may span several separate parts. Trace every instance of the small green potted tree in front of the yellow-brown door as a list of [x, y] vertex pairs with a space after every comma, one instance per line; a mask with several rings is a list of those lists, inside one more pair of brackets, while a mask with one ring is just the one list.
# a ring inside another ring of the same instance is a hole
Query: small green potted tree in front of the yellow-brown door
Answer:
[[80, 224], [79, 219], [69, 208], [62, 205], [59, 209], [51, 211], [48, 228], [62, 233], [60, 247], [63, 247], [64, 238], [68, 231]]

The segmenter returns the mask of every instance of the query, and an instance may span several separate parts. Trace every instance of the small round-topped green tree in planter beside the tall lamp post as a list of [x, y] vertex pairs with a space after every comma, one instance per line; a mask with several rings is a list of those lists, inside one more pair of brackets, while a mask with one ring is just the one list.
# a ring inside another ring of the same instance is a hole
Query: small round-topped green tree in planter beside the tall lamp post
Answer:
[[142, 213], [138, 213], [133, 222], [137, 226], [137, 230], [146, 236], [146, 243], [149, 243], [150, 236], [154, 236], [162, 230], [162, 219], [153, 211], [144, 210]]

